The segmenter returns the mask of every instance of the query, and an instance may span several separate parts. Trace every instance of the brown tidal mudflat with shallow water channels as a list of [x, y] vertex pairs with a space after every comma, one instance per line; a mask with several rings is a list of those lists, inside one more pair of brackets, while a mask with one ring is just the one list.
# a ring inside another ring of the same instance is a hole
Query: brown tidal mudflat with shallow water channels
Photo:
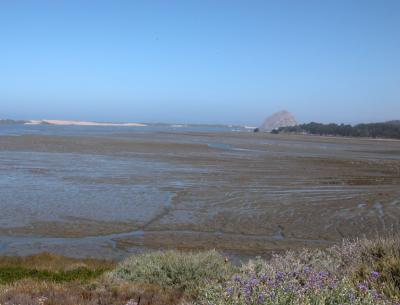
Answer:
[[0, 254], [267, 255], [397, 231], [400, 141], [250, 132], [0, 136]]

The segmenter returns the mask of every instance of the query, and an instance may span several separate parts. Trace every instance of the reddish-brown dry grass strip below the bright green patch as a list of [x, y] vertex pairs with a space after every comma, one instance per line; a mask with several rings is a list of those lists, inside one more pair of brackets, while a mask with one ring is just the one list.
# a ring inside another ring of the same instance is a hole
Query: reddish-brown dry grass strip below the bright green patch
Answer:
[[130, 300], [143, 305], [172, 305], [183, 302], [178, 291], [160, 289], [155, 285], [128, 284], [110, 286], [96, 282], [57, 284], [22, 280], [0, 286], [2, 305], [124, 305]]

